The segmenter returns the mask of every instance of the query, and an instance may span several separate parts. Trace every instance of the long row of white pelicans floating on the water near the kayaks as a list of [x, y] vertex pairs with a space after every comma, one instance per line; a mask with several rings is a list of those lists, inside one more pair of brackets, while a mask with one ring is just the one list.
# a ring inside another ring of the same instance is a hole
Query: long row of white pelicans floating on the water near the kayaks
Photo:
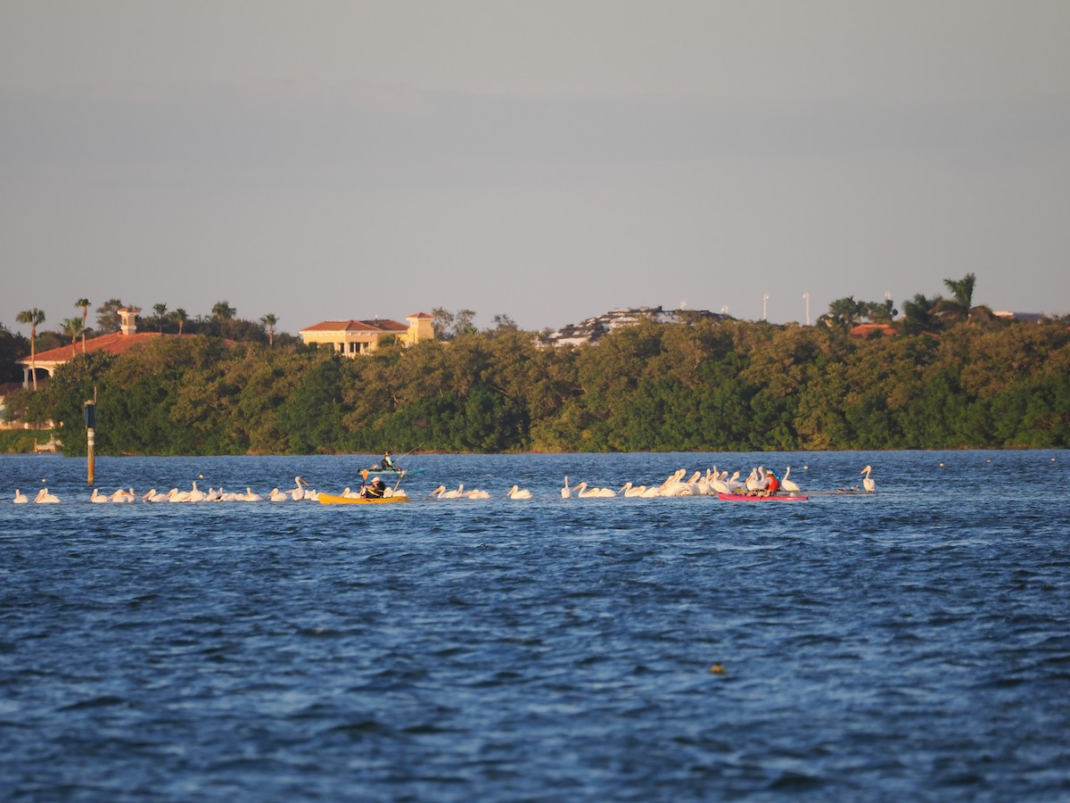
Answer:
[[[872, 466], [867, 466], [861, 470], [863, 475], [862, 489], [867, 494], [873, 493], [876, 487], [876, 483], [873, 478], [870, 476], [873, 471]], [[789, 494], [797, 494], [801, 490], [799, 485], [793, 480], [789, 479], [792, 473], [791, 466], [784, 471], [784, 476], [780, 480], [780, 489]], [[764, 466], [755, 466], [751, 469], [750, 474], [747, 475], [745, 480], [739, 479], [740, 472], [736, 471], [729, 475], [728, 471], [719, 471], [716, 466], [712, 469], [706, 469], [705, 473], [702, 471], [696, 471], [686, 480], [687, 469], [679, 469], [670, 474], [666, 480], [658, 485], [635, 485], [631, 482], [626, 482], [621, 488], [596, 488], [590, 487], [586, 482], [581, 482], [579, 484], [569, 484], [568, 478], [565, 478], [565, 485], [561, 489], [562, 499], [571, 499], [576, 497], [577, 499], [609, 499], [617, 496], [623, 497], [689, 497], [689, 496], [717, 496], [717, 494], [762, 494], [768, 493], [769, 482], [773, 476], [773, 472], [768, 471]], [[288, 501], [302, 501], [302, 500], [319, 500], [319, 491], [310, 488], [308, 483], [301, 476], [293, 478], [294, 487], [287, 490], [280, 490], [279, 488], [272, 488], [268, 494], [260, 495], [254, 491], [251, 488], [246, 487], [244, 493], [241, 491], [225, 491], [221, 487], [212, 488], [208, 490], [201, 490], [197, 487], [197, 483], [194, 482], [189, 490], [179, 490], [178, 488], [171, 488], [167, 491], [156, 490], [152, 488], [144, 494], [138, 495], [134, 491], [134, 488], [119, 488], [113, 494], [102, 494], [100, 489], [93, 488], [93, 495], [90, 497], [91, 502], [103, 503], [129, 503], [129, 502], [288, 502]], [[346, 487], [346, 489], [339, 495], [349, 498], [360, 498], [360, 490], [353, 490], [352, 487]], [[403, 497], [408, 496], [402, 488], [391, 488], [387, 486], [384, 496], [387, 497]], [[509, 490], [505, 493], [507, 499], [532, 499], [532, 493], [526, 488], [520, 488], [514, 485]], [[455, 489], [447, 489], [445, 485], [440, 485], [429, 495], [429, 499], [490, 499], [491, 495], [489, 491], [479, 490], [475, 488], [465, 489], [464, 485], [458, 485]], [[15, 490], [15, 504], [26, 504], [33, 502], [36, 504], [57, 504], [60, 502], [60, 498], [55, 494], [49, 493], [48, 488], [41, 488], [37, 491], [36, 497], [32, 500], [24, 494], [20, 489]]]

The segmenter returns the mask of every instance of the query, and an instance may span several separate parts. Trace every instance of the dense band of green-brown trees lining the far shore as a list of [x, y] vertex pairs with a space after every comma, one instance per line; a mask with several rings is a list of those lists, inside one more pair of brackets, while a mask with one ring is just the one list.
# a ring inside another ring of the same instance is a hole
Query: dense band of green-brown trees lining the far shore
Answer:
[[[858, 337], [823, 317], [642, 320], [579, 346], [499, 325], [355, 359], [163, 336], [76, 355], [10, 393], [7, 414], [56, 422], [67, 456], [86, 454], [94, 390], [98, 455], [1070, 446], [1065, 320], [964, 315]], [[0, 431], [0, 451], [49, 433]]]

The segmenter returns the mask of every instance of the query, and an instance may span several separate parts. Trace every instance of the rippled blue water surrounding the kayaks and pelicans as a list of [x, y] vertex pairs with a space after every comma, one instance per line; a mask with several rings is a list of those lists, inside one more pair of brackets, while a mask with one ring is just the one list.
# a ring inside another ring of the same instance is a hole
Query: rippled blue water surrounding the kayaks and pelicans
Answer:
[[[96, 480], [337, 493], [370, 461]], [[0, 456], [0, 798], [1070, 798], [1070, 453], [407, 461], [414, 498], [493, 497], [90, 504], [85, 460]], [[814, 495], [560, 495], [759, 463]], [[874, 494], [827, 493], [866, 464]]]

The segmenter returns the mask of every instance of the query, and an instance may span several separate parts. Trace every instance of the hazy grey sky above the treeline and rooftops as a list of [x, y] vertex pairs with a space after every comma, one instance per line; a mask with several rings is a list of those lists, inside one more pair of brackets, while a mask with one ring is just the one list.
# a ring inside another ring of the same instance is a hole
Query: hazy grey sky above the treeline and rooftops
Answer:
[[805, 323], [967, 273], [1065, 315], [1068, 212], [1065, 0], [0, 3], [22, 334], [83, 297]]

